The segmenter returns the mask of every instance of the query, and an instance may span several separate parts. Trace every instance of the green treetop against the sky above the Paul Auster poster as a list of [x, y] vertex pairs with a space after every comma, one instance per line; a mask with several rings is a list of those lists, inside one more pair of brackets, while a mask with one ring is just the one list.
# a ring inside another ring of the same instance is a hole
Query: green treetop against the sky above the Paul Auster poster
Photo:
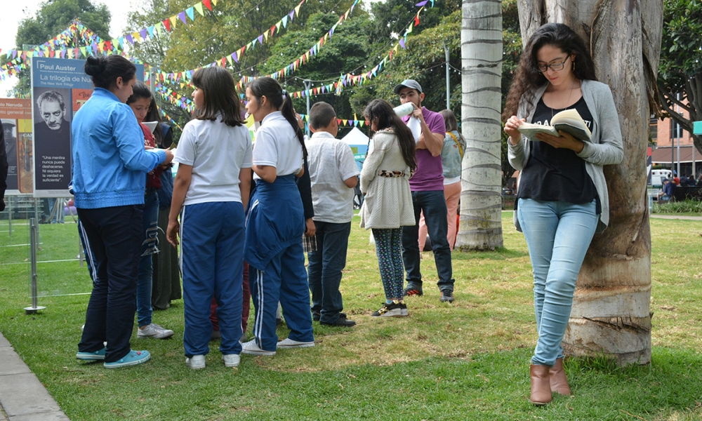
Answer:
[[[102, 39], [110, 39], [110, 16], [107, 6], [95, 6], [90, 0], [47, 0], [40, 5], [34, 18], [20, 22], [15, 43], [18, 49], [44, 44], [63, 32], [74, 18], [79, 18]], [[69, 43], [70, 48], [74, 46], [81, 45]], [[20, 80], [14, 88], [14, 94], [26, 95], [30, 90], [29, 69], [20, 72], [18, 77]]]

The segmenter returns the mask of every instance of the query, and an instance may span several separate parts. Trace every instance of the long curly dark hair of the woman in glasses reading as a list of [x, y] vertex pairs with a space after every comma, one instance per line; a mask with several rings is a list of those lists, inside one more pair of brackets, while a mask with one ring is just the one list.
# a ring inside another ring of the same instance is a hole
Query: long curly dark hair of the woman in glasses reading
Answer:
[[524, 53], [519, 59], [519, 66], [512, 79], [510, 92], [507, 94], [505, 109], [502, 112], [503, 121], [517, 115], [519, 102], [524, 100], [527, 104], [534, 105], [534, 94], [539, 86], [548, 79], [538, 71], [536, 55], [543, 46], [560, 48], [567, 55], [575, 55], [573, 60], [573, 73], [579, 80], [597, 80], [595, 78], [595, 64], [585, 47], [585, 42], [573, 29], [562, 23], [547, 23], [536, 29], [524, 48]]

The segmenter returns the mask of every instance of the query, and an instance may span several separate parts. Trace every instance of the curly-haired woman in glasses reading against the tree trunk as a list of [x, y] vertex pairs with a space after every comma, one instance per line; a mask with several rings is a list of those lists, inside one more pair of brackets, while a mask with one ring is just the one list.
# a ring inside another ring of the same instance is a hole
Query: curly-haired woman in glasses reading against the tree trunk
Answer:
[[[558, 131], [528, 140], [520, 133], [524, 123], [550, 126], [564, 109], [580, 114], [590, 139]], [[561, 342], [585, 252], [609, 222], [602, 166], [623, 159], [621, 132], [609, 86], [595, 80], [585, 43], [556, 23], [536, 29], [524, 48], [503, 119], [510, 163], [520, 171], [515, 225], [524, 232], [534, 269], [538, 342], [529, 400], [545, 405], [552, 392], [570, 394]]]

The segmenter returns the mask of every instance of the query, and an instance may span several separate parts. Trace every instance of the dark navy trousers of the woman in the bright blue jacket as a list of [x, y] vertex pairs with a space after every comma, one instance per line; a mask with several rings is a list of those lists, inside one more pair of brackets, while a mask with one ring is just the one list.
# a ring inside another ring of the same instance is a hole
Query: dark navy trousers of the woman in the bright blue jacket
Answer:
[[[95, 256], [95, 280], [79, 352], [95, 352], [107, 341], [105, 362], [130, 352], [136, 311], [136, 281], [143, 240], [143, 206], [78, 209]], [[86, 253], [87, 254], [87, 253]]]

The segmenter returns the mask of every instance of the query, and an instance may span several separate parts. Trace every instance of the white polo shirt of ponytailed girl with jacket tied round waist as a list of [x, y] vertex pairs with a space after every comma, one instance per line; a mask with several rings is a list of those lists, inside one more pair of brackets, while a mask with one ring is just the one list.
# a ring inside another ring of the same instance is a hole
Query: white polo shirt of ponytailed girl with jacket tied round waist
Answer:
[[[303, 147], [282, 112], [263, 118], [256, 131], [253, 164], [275, 167], [276, 175], [297, 174], [303, 168]], [[257, 174], [253, 178], [260, 179]]]

